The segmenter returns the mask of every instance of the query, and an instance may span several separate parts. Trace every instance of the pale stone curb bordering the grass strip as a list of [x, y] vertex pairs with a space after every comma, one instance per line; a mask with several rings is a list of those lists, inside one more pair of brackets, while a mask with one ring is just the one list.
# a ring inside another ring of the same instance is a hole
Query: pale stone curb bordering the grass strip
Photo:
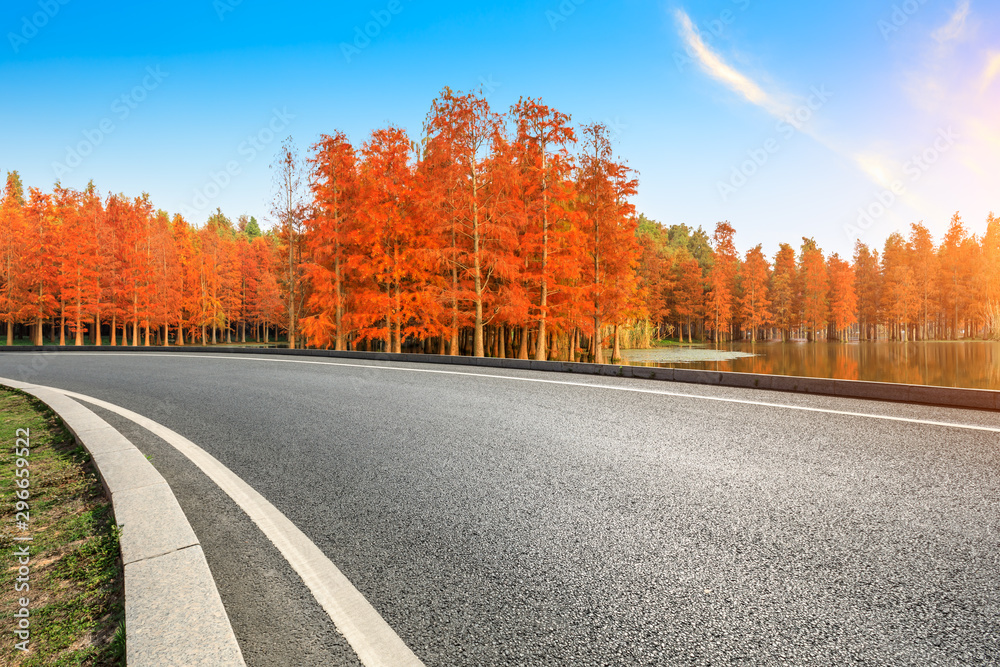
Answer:
[[48, 405], [90, 452], [122, 526], [128, 665], [245, 666], [198, 538], [153, 464], [68, 396], [5, 378], [0, 385]]

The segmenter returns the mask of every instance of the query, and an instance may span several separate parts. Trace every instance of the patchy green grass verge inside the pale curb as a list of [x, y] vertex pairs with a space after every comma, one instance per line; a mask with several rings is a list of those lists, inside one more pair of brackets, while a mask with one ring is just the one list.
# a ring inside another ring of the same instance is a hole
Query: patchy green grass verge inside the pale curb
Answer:
[[[30, 592], [15, 592], [26, 533], [14, 525], [15, 433], [30, 429]], [[35, 399], [0, 390], [0, 664], [125, 664], [123, 576], [111, 505], [89, 464], [61, 421]], [[15, 649], [17, 600], [31, 600], [30, 650]]]

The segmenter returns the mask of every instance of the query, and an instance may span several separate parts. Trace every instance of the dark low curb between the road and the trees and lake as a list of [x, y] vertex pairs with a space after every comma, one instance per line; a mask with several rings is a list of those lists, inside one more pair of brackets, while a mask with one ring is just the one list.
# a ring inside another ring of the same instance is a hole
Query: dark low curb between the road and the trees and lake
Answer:
[[[513, 370], [537, 370], [556, 373], [578, 373], [583, 375], [604, 375], [614, 377], [642, 378], [667, 382], [687, 382], [718, 387], [740, 387], [746, 389], [768, 389], [772, 391], [837, 396], [840, 398], [864, 398], [880, 401], [916, 403], [953, 408], [974, 408], [979, 410], [1000, 410], [1000, 391], [987, 389], [959, 389], [955, 387], [933, 387], [913, 384], [893, 384], [889, 382], [862, 382], [858, 380], [834, 380], [830, 378], [794, 377], [789, 375], [758, 375], [753, 373], [727, 373], [701, 371], [686, 368], [651, 368], [646, 366], [617, 366], [611, 364], [588, 364], [568, 361], [528, 361], [522, 359], [495, 359], [474, 357], [447, 357], [433, 354], [390, 354], [387, 352], [335, 352], [333, 350], [289, 350], [285, 348], [241, 348], [241, 347], [31, 347], [0, 346], [0, 352], [165, 352], [165, 353], [213, 353], [213, 354], [276, 354], [334, 359], [355, 359], [367, 361], [404, 361], [421, 364], [445, 364], [476, 366], [480, 368], [507, 368]], [[30, 373], [30, 368], [24, 368]]]

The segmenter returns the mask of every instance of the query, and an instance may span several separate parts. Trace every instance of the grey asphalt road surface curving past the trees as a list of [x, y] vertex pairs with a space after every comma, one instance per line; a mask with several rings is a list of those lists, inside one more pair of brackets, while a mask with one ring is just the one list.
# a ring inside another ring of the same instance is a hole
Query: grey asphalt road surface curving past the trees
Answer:
[[[1000, 433], [702, 397], [994, 427], [1000, 415], [273, 359], [7, 353], [0, 377], [95, 396], [200, 445], [427, 665], [1000, 661]], [[249, 665], [357, 664], [227, 496], [101, 414], [177, 493]]]

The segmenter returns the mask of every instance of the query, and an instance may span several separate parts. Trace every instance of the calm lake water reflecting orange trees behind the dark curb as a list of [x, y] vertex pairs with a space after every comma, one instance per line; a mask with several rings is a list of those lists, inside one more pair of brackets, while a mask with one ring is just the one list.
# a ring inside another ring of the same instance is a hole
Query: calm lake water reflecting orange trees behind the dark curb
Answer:
[[1000, 342], [730, 343], [622, 357], [635, 366], [1000, 389]]

